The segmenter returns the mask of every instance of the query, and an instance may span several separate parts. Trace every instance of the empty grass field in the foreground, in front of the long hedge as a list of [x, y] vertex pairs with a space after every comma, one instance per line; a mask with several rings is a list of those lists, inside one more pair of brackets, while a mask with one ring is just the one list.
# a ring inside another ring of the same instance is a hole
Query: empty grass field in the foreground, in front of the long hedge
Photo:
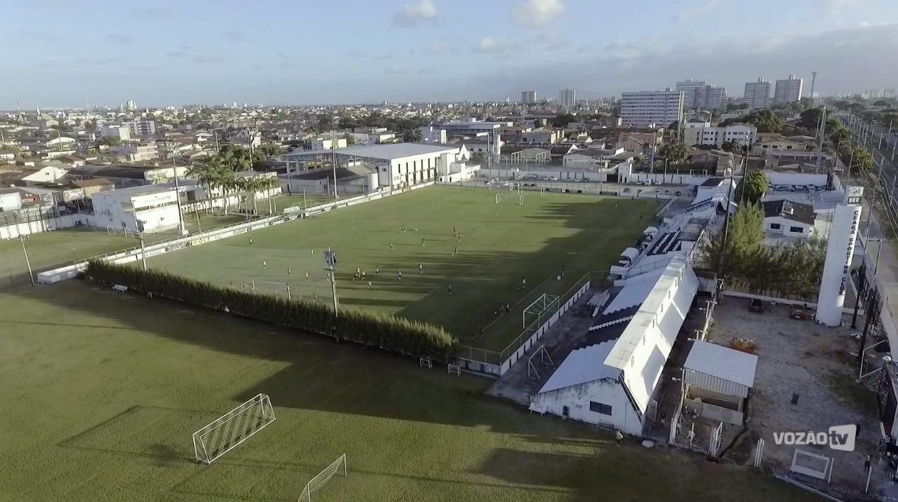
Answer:
[[[529, 415], [487, 379], [86, 281], [0, 287], [0, 373], [3, 500], [296, 500], [340, 454], [348, 478], [313, 500], [810, 500]], [[190, 434], [258, 392], [277, 420], [193, 462]]]

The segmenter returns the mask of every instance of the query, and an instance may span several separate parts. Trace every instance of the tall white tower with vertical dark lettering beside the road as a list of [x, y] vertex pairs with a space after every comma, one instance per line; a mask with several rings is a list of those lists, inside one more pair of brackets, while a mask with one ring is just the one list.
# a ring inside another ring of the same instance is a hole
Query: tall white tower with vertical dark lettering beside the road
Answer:
[[858, 239], [860, 200], [863, 194], [863, 187], [845, 187], [845, 200], [836, 206], [832, 214], [816, 316], [818, 322], [827, 326], [838, 326], [841, 323], [845, 291], [851, 280], [854, 245]]

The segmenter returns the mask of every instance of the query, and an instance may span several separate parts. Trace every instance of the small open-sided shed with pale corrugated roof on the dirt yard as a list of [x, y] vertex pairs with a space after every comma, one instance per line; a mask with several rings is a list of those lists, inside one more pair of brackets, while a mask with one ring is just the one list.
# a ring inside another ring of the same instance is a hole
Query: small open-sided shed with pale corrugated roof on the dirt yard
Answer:
[[742, 425], [757, 367], [754, 354], [696, 340], [682, 367], [686, 405], [702, 418]]

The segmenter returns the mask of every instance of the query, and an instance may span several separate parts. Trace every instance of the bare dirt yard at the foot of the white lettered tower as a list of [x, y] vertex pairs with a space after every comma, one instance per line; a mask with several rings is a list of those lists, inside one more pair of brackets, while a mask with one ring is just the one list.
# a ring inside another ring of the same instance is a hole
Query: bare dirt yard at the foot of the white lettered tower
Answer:
[[[876, 418], [873, 392], [856, 382], [858, 342], [850, 328], [829, 328], [814, 321], [789, 319], [788, 307], [767, 305], [762, 313], [749, 312], [748, 301], [725, 297], [715, 309], [709, 340], [730, 346], [733, 339], [752, 339], [757, 348], [757, 373], [747, 403], [747, 431], [743, 445], [749, 450], [757, 438], [765, 440], [763, 466], [789, 471], [795, 449], [832, 457], [832, 480], [827, 483], [790, 473], [806, 484], [849, 498], [863, 494], [867, 482], [864, 462], [874, 454], [882, 432]], [[850, 316], [846, 316], [850, 324]], [[858, 320], [858, 326], [863, 326]], [[777, 445], [774, 433], [828, 432], [829, 427], [858, 425], [853, 452], [832, 450], [828, 445]], [[751, 455], [747, 455], [751, 462]], [[876, 455], [874, 455], [876, 458]], [[871, 492], [887, 479], [885, 462], [874, 461]], [[890, 481], [885, 484], [891, 485]]]

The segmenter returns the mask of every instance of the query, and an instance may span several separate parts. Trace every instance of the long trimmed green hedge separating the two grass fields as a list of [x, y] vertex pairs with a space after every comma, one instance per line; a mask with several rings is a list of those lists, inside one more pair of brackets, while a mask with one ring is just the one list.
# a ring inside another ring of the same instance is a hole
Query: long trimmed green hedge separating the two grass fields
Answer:
[[226, 308], [230, 313], [299, 330], [330, 336], [336, 328], [339, 339], [412, 357], [445, 361], [457, 343], [443, 328], [424, 322], [351, 310], [341, 310], [339, 317], [334, 317], [327, 304], [243, 292], [166, 272], [145, 272], [136, 267], [93, 260], [84, 273], [110, 286], [120, 284], [200, 307], [223, 311]]

